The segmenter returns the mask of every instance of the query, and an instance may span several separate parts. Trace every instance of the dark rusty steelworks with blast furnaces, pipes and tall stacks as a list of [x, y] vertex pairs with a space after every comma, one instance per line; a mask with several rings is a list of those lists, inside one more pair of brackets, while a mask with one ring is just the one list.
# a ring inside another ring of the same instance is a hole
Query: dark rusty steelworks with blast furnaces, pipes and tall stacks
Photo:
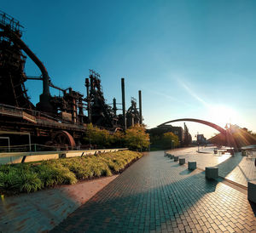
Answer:
[[[142, 94], [139, 94], [139, 111], [136, 99], [125, 110], [125, 79], [121, 79], [122, 114], [117, 114], [116, 99], [107, 105], [102, 92], [100, 75], [90, 70], [85, 78], [86, 97], [73, 88], [56, 87], [41, 60], [21, 40], [19, 21], [0, 12], [0, 139], [11, 137], [12, 144], [23, 143], [20, 135], [29, 134], [33, 143], [74, 149], [83, 144], [86, 125], [125, 130], [142, 124]], [[41, 77], [27, 77], [24, 71], [26, 55], [38, 65]], [[28, 79], [43, 82], [43, 94], [37, 105], [30, 101], [25, 82]], [[52, 96], [49, 88], [61, 91]]]

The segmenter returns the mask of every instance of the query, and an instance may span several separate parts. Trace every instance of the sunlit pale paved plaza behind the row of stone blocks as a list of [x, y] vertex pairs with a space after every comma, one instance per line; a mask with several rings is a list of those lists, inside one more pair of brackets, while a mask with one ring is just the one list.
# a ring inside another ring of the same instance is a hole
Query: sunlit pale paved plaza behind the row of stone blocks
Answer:
[[252, 157], [241, 156], [241, 152], [230, 156], [229, 154], [214, 154], [214, 147], [200, 148], [201, 153], [197, 152], [197, 147], [190, 147], [182, 150], [169, 151], [175, 156], [185, 158], [186, 162], [196, 161], [198, 168], [205, 169], [206, 167], [218, 167], [219, 176], [236, 182], [239, 185], [247, 187], [247, 182], [256, 180], [256, 168], [254, 160], [256, 152], [253, 152]]

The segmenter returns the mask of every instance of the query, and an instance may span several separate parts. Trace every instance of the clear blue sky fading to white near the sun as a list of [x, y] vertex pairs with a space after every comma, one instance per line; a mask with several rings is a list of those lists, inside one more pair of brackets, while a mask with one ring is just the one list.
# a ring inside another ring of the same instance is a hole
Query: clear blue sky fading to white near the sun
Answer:
[[[255, 1], [10, 0], [1, 5], [25, 26], [23, 40], [57, 86], [85, 94], [84, 78], [94, 69], [108, 103], [113, 97], [121, 102], [121, 77], [126, 107], [142, 90], [148, 128], [191, 117], [222, 127], [230, 121], [256, 132]], [[26, 74], [40, 75], [29, 59]], [[37, 103], [42, 83], [28, 81], [26, 87]], [[187, 125], [193, 137], [217, 133]]]

